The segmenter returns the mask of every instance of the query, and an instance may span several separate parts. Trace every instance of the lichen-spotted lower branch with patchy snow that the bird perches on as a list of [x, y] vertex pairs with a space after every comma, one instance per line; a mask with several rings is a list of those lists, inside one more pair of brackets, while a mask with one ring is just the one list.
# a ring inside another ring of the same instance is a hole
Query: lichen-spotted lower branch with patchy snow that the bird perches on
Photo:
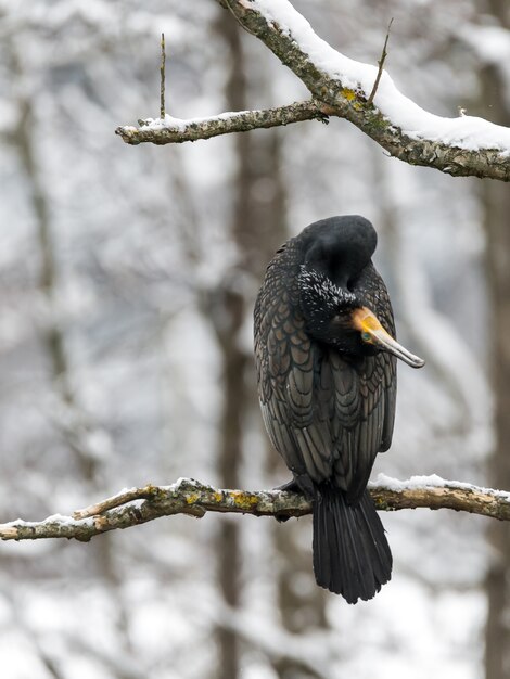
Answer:
[[[379, 510], [451, 509], [510, 521], [510, 492], [449, 482], [438, 476], [413, 476], [399, 482], [379, 475], [369, 486]], [[73, 516], [54, 514], [40, 522], [21, 518], [0, 524], [2, 540], [74, 538], [84, 542], [95, 535], [129, 528], [162, 516], [206, 512], [230, 512], [254, 516], [290, 518], [311, 512], [310, 503], [299, 494], [286, 490], [222, 490], [190, 478], [170, 486], [148, 485], [131, 488], [77, 510]]]

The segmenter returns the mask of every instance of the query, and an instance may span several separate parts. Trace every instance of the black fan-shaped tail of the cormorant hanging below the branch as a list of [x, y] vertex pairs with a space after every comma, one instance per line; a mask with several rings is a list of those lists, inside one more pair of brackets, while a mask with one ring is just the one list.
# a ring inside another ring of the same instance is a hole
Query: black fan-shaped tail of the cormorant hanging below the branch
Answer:
[[357, 504], [329, 484], [314, 500], [314, 572], [317, 584], [348, 603], [367, 601], [392, 576], [392, 552], [373, 501], [365, 490]]

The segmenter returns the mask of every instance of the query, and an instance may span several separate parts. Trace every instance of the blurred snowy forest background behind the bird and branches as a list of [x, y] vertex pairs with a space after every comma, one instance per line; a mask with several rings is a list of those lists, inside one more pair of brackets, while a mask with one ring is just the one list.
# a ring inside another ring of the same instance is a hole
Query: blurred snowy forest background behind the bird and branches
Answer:
[[[296, 0], [333, 47], [443, 116], [510, 124], [506, 0]], [[399, 337], [375, 472], [510, 488], [510, 214], [500, 182], [392, 159], [332, 119], [182, 146], [114, 129], [306, 98], [213, 0], [0, 0], [0, 521], [191, 476], [289, 475], [256, 400], [252, 309], [310, 221], [375, 225]], [[316, 587], [309, 517], [176, 516], [89, 545], [0, 545], [2, 679], [510, 677], [510, 528], [386, 514], [371, 602]]]

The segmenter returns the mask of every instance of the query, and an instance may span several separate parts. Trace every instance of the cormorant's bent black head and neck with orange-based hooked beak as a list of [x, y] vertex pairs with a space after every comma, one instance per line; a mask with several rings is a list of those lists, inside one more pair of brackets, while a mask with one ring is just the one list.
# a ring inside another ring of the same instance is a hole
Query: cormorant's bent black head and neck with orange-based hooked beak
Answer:
[[421, 368], [424, 361], [401, 346], [367, 304], [362, 281], [377, 245], [372, 225], [362, 217], [335, 217], [311, 225], [303, 235], [298, 290], [309, 334], [345, 354], [387, 351]]

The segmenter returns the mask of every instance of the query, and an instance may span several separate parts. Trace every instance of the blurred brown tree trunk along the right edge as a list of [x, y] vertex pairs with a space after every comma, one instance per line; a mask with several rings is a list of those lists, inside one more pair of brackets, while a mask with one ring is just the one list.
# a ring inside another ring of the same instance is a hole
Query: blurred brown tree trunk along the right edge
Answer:
[[[501, 26], [510, 28], [508, 2], [489, 0], [489, 9]], [[502, 65], [501, 65], [502, 67]], [[480, 74], [483, 102], [494, 123], [510, 125], [506, 100], [506, 80], [495, 65]], [[490, 295], [492, 322], [487, 340], [492, 342], [492, 371], [495, 392], [496, 447], [488, 462], [488, 484], [510, 488], [510, 189], [497, 181], [482, 184], [487, 234], [486, 264]], [[485, 579], [487, 622], [485, 629], [486, 679], [510, 679], [510, 529], [492, 522], [488, 526], [492, 548]]]

